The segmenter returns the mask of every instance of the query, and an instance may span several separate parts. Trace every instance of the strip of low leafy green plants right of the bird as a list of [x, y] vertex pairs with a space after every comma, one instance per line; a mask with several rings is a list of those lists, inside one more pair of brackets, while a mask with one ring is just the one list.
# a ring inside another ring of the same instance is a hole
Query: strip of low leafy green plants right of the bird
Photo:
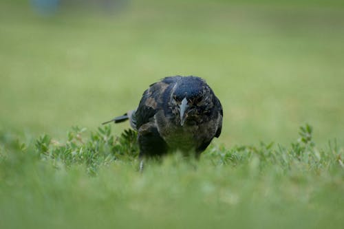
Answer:
[[309, 124], [300, 127], [299, 136], [299, 139], [290, 146], [275, 147], [273, 142], [269, 144], [261, 142], [259, 146], [234, 146], [231, 149], [222, 146], [208, 151], [208, 157], [213, 164], [230, 166], [244, 166], [256, 160], [261, 171], [270, 166], [279, 166], [283, 171], [288, 172], [295, 164], [306, 171], [319, 171], [323, 166], [332, 168], [341, 164], [340, 158], [343, 152], [338, 150], [336, 142], [334, 146], [329, 143], [331, 153], [317, 149], [312, 140], [312, 127]]

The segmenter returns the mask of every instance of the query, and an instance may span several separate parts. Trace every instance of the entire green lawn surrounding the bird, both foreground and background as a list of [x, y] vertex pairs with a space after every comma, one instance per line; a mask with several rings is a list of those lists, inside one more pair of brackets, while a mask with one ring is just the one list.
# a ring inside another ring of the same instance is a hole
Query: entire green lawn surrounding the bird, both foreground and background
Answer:
[[[1, 1], [0, 228], [341, 228], [343, 28], [334, 0]], [[129, 124], [98, 127], [176, 74], [211, 85], [222, 135], [140, 174]]]

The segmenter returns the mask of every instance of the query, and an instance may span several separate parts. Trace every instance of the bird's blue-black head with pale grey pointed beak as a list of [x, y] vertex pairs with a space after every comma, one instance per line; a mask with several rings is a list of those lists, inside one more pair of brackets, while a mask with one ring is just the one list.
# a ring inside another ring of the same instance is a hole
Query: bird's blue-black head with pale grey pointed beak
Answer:
[[184, 77], [175, 85], [171, 95], [173, 113], [180, 126], [204, 122], [213, 107], [213, 92], [204, 80], [198, 77]]

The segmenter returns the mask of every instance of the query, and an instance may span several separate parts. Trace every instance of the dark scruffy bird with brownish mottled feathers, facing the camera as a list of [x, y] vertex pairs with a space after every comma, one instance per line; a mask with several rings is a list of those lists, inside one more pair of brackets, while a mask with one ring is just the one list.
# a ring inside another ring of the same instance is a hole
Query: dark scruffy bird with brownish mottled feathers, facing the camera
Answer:
[[144, 91], [135, 111], [103, 124], [129, 119], [138, 131], [140, 158], [175, 150], [194, 152], [198, 158], [219, 137], [222, 117], [222, 105], [205, 80], [169, 76]]

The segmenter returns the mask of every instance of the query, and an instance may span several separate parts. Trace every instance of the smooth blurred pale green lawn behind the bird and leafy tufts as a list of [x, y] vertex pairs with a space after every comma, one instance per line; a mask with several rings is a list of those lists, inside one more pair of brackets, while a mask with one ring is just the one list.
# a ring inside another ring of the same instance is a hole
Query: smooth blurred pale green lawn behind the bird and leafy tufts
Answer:
[[305, 122], [316, 142], [344, 142], [343, 1], [84, 5], [47, 15], [0, 2], [0, 131], [93, 130], [180, 74], [205, 78], [221, 100], [217, 142], [288, 143]]

